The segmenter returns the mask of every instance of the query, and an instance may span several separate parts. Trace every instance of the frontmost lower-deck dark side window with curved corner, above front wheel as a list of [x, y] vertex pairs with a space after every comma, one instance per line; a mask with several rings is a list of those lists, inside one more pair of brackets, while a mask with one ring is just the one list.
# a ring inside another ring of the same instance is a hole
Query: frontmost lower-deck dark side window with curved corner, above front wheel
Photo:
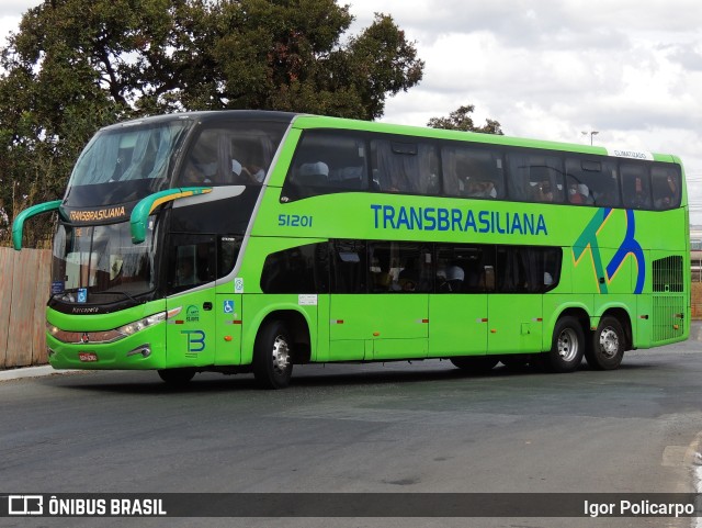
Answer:
[[327, 245], [297, 246], [265, 258], [261, 290], [263, 293], [326, 293], [328, 277]]

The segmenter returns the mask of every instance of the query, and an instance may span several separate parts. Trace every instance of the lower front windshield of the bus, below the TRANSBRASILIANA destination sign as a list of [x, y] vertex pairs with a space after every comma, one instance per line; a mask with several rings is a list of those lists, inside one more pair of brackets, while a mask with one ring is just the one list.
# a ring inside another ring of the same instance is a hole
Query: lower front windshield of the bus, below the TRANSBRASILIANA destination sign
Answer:
[[68, 304], [134, 300], [155, 288], [156, 238], [132, 244], [129, 223], [59, 225], [54, 239], [52, 297]]

